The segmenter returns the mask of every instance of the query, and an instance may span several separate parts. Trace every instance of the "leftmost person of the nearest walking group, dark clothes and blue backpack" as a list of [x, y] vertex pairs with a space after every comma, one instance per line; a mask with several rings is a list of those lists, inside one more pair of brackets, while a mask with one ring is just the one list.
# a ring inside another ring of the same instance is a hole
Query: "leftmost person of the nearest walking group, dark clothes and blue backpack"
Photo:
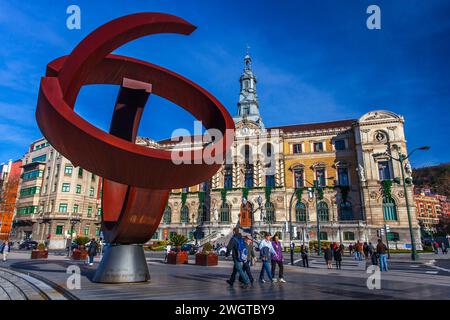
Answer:
[[242, 278], [242, 282], [244, 283], [242, 288], [248, 288], [250, 286], [250, 280], [242, 268], [242, 263], [247, 261], [248, 252], [245, 247], [244, 239], [239, 233], [239, 229], [234, 228], [233, 233], [234, 235], [230, 239], [227, 246], [227, 252], [225, 253], [226, 257], [228, 257], [230, 253], [233, 257], [233, 272], [231, 273], [230, 279], [227, 280], [227, 283], [230, 286], [233, 286], [234, 281], [236, 280], [236, 273], [239, 273], [239, 276]]

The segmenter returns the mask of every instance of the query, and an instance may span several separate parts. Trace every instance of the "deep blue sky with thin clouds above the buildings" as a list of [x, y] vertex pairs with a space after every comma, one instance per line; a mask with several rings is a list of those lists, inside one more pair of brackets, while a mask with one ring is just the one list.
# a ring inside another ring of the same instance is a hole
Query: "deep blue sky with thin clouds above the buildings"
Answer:
[[[94, 3], [94, 4], [93, 4]], [[66, 9], [81, 8], [81, 30]], [[366, 28], [381, 7], [382, 29]], [[142, 11], [178, 15], [198, 27], [188, 37], [156, 35], [118, 49], [167, 67], [213, 93], [236, 113], [250, 45], [266, 126], [358, 118], [386, 109], [406, 120], [413, 166], [450, 161], [450, 2], [447, 0], [14, 1], [0, 0], [0, 162], [20, 158], [41, 136], [34, 118], [46, 64], [70, 53], [95, 27]], [[108, 129], [117, 87], [84, 87], [75, 110]], [[169, 120], [170, 119], [170, 120]], [[151, 96], [140, 135], [192, 130], [183, 109]]]

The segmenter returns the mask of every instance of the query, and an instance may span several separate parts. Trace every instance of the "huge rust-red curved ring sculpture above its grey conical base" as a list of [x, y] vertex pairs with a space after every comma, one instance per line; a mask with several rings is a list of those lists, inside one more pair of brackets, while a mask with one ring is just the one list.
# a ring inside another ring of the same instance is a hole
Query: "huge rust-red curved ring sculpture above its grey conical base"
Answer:
[[[110, 54], [121, 45], [158, 33], [189, 35], [195, 27], [176, 16], [138, 13], [110, 21], [90, 33], [68, 56], [47, 66], [36, 118], [39, 128], [74, 165], [103, 180], [102, 230], [112, 244], [142, 244], [156, 231], [169, 192], [208, 180], [220, 163], [203, 152], [185, 151], [195, 164], [175, 164], [171, 152], [135, 144], [141, 115], [152, 92], [189, 111], [207, 128], [223, 133], [213, 155], [225, 158], [234, 122], [225, 107], [192, 81], [157, 65]], [[117, 84], [121, 89], [109, 134], [74, 111], [81, 86]], [[201, 158], [201, 159], [200, 159]]]

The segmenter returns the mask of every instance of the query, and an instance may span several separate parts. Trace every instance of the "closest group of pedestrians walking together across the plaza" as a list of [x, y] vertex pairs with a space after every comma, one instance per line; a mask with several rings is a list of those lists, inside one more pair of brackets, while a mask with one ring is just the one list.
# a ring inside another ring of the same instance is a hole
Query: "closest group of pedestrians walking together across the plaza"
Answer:
[[[270, 282], [286, 282], [283, 275], [283, 248], [278, 236], [272, 237], [270, 233], [266, 233], [264, 239], [260, 241], [258, 249], [261, 260], [259, 282], [265, 283], [266, 275]], [[257, 261], [253, 239], [250, 236], [243, 237], [239, 229], [235, 228], [225, 256], [228, 257], [230, 254], [233, 258], [233, 271], [227, 283], [233, 286], [236, 275], [239, 274], [242, 287], [249, 288], [254, 282], [251, 267], [255, 266]], [[277, 268], [278, 279], [275, 277]]]

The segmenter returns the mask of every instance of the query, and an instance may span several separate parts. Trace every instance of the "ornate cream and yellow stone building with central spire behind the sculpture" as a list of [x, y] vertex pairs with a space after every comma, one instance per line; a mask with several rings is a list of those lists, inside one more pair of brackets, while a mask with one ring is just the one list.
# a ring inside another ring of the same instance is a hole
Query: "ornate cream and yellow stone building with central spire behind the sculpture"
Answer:
[[[400, 164], [379, 155], [392, 154], [394, 144], [406, 152], [403, 117], [371, 111], [359, 119], [266, 128], [250, 56], [244, 61], [235, 142], [226, 164], [210, 181], [172, 192], [154, 238], [177, 232], [221, 242], [239, 224], [289, 240], [292, 225], [293, 240], [301, 243], [316, 240], [318, 231], [322, 240], [375, 243], [387, 224], [397, 247], [409, 248], [403, 185], [389, 182], [389, 194], [382, 187], [382, 181], [400, 177]], [[167, 141], [151, 146], [180, 147]], [[412, 185], [407, 190], [420, 248]]]

